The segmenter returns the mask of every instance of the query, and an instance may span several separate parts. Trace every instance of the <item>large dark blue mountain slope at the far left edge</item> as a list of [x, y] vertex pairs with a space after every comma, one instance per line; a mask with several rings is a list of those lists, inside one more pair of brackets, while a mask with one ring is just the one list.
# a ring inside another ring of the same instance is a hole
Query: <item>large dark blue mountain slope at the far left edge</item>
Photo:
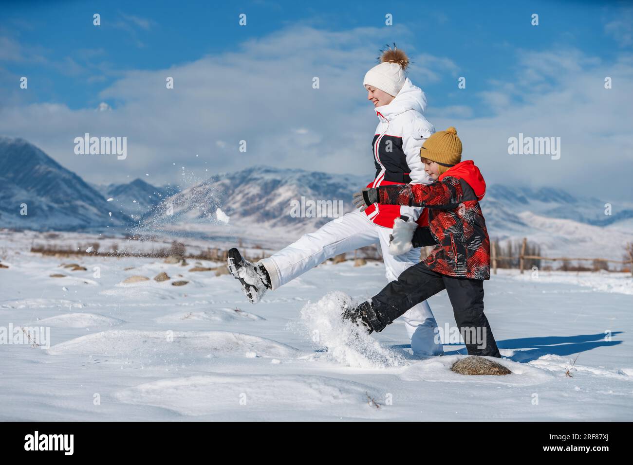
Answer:
[[0, 137], [0, 186], [0, 227], [123, 225], [99, 192], [24, 139]]

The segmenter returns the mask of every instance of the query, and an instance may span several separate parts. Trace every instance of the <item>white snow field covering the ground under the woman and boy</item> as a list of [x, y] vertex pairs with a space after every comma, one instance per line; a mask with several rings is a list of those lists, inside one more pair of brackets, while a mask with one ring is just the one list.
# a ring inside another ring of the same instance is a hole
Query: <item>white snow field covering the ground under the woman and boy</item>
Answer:
[[[194, 263], [85, 256], [72, 261], [86, 271], [68, 271], [62, 261], [23, 251], [3, 261], [0, 327], [49, 326], [51, 346], [0, 344], [1, 419], [633, 417], [624, 276], [500, 270], [485, 285], [486, 314], [513, 373], [487, 377], [450, 371], [463, 345], [416, 359], [399, 321], [354, 337], [341, 306], [382, 288], [380, 263], [323, 264], [253, 306], [232, 276]], [[162, 271], [171, 279], [151, 279]], [[122, 284], [133, 275], [150, 279]], [[445, 293], [430, 306], [454, 325]]]

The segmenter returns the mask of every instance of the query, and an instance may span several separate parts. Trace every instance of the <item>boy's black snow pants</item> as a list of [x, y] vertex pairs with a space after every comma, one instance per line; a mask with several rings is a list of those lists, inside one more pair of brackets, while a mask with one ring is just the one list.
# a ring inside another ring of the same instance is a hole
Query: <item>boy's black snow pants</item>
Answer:
[[429, 270], [422, 262], [406, 269], [397, 281], [372, 297], [380, 321], [391, 323], [408, 309], [446, 289], [468, 355], [501, 357], [484, 314], [484, 281], [454, 278]]

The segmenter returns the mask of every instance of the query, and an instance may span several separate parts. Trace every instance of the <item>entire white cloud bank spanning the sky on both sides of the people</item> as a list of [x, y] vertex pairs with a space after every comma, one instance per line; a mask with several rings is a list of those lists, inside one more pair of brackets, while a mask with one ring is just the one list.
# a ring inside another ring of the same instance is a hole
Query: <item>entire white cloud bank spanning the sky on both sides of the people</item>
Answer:
[[[96, 96], [112, 111], [5, 106], [0, 127], [93, 182], [123, 182], [148, 166], [158, 183], [182, 177], [182, 166], [201, 178], [253, 164], [369, 175], [377, 118], [362, 80], [391, 35], [384, 28], [291, 27], [230, 53], [122, 73]], [[403, 49], [417, 58], [410, 77], [423, 89], [428, 80], [458, 71], [447, 58]], [[519, 51], [518, 57], [513, 80], [489, 82], [490, 89], [478, 94], [482, 107], [452, 99], [449, 107], [430, 108], [430, 121], [438, 130], [458, 128], [464, 158], [475, 159], [489, 183], [630, 197], [633, 56], [606, 63], [575, 49], [551, 49]], [[315, 76], [320, 89], [312, 88]], [[604, 88], [606, 76], [613, 89]], [[166, 89], [166, 77], [174, 78], [174, 89]], [[127, 159], [75, 155], [73, 138], [85, 132], [127, 136]], [[508, 155], [508, 137], [520, 132], [561, 137], [561, 159]], [[239, 140], [247, 141], [247, 152], [239, 151]], [[601, 163], [592, 163], [596, 158]]]

